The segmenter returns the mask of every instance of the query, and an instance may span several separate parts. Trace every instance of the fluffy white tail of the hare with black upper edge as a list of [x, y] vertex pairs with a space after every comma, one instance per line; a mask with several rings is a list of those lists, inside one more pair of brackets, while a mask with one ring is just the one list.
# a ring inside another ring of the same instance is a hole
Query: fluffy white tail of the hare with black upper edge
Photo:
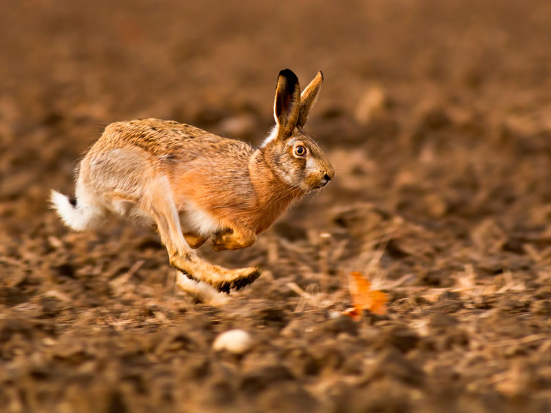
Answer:
[[63, 224], [74, 231], [97, 228], [103, 221], [104, 213], [97, 207], [78, 203], [75, 199], [70, 199], [67, 195], [53, 189], [50, 201], [52, 202], [52, 208], [56, 210]]

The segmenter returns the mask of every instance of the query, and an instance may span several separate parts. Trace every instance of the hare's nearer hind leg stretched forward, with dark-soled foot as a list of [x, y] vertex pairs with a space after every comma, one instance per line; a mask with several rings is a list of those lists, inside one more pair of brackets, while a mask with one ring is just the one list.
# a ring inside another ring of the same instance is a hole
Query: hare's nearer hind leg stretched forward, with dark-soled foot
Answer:
[[243, 288], [260, 276], [258, 268], [230, 270], [200, 260], [185, 242], [167, 178], [152, 180], [144, 195], [140, 207], [155, 220], [161, 241], [169, 253], [170, 264], [178, 271], [226, 293], [230, 288]]

